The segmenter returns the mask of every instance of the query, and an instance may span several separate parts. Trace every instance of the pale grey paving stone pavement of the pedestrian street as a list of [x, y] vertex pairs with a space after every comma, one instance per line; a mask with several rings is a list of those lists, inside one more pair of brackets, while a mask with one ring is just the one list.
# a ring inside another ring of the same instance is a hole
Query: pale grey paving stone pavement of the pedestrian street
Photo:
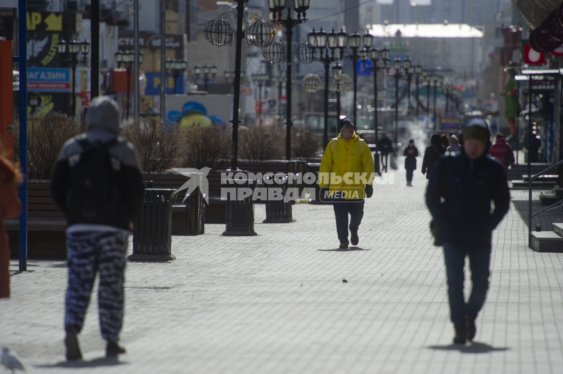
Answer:
[[30, 261], [17, 273], [12, 262], [0, 346], [30, 373], [563, 373], [563, 254], [526, 246], [526, 191], [512, 191], [493, 236], [476, 342], [458, 348], [426, 179], [395, 182], [374, 188], [354, 249], [337, 249], [332, 206], [297, 204], [297, 222], [262, 224], [256, 205], [259, 236], [207, 225], [173, 237], [175, 261], [129, 262], [119, 362], [102, 358], [93, 295], [79, 336], [85, 362], [65, 363], [65, 263]]

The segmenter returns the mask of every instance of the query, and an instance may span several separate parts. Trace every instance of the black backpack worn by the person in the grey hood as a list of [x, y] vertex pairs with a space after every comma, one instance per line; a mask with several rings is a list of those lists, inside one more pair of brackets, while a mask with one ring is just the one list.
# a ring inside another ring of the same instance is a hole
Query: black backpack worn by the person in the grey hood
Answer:
[[68, 220], [73, 223], [108, 224], [118, 213], [120, 200], [118, 171], [120, 161], [109, 150], [119, 143], [78, 141], [82, 154], [71, 165], [66, 206]]

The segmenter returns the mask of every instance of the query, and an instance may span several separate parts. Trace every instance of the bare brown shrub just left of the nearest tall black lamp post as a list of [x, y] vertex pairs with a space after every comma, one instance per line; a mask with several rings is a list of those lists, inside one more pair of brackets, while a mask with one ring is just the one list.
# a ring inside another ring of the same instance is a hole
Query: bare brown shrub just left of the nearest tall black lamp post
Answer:
[[220, 128], [192, 127], [181, 130], [185, 139], [185, 168], [224, 168], [231, 157], [231, 136]]

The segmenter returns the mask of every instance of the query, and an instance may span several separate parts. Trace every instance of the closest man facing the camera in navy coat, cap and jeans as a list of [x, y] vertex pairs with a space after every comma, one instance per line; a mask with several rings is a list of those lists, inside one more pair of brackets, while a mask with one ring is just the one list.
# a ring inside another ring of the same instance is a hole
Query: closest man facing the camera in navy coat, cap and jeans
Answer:
[[[444, 157], [436, 164], [426, 192], [426, 204], [444, 245], [456, 344], [475, 337], [475, 318], [489, 287], [491, 231], [501, 222], [510, 204], [504, 168], [488, 156], [490, 134], [485, 121], [471, 120], [462, 142], [460, 154]], [[441, 202], [442, 197], [445, 202]], [[491, 201], [494, 201], [493, 213]], [[467, 303], [463, 296], [466, 255], [472, 280]]]

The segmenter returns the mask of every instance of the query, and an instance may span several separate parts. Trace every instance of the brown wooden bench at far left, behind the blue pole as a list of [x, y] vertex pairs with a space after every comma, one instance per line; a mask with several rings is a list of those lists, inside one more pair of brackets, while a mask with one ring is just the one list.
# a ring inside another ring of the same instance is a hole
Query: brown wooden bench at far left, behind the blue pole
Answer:
[[[18, 191], [19, 193], [19, 191]], [[12, 257], [20, 245], [19, 218], [6, 219]], [[66, 217], [51, 195], [51, 181], [28, 181], [28, 257], [66, 258]]]

